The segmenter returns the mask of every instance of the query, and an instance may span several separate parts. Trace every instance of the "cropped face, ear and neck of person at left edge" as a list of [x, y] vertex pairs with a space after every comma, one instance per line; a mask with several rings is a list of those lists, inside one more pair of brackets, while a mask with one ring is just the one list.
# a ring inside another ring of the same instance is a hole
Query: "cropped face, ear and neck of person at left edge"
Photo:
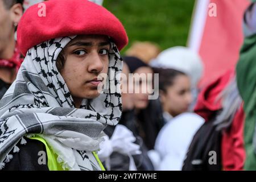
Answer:
[[15, 47], [14, 24], [19, 22], [22, 13], [20, 4], [6, 9], [3, 1], [0, 0], [0, 59], [10, 59], [13, 56]]

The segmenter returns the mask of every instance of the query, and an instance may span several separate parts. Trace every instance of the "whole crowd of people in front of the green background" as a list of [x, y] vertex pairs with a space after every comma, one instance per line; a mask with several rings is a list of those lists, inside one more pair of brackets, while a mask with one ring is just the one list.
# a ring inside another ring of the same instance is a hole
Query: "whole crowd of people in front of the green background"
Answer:
[[237, 67], [203, 88], [187, 47], [121, 55], [125, 28], [102, 1], [43, 3], [46, 16], [0, 0], [0, 169], [256, 169], [256, 3]]

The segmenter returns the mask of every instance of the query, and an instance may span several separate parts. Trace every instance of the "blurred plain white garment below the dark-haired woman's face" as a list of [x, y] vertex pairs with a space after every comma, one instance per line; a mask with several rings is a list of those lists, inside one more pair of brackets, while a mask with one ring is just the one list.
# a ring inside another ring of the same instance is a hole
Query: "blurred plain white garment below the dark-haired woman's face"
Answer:
[[189, 144], [204, 122], [195, 113], [183, 113], [167, 122], [155, 142], [160, 155], [158, 170], [181, 170]]

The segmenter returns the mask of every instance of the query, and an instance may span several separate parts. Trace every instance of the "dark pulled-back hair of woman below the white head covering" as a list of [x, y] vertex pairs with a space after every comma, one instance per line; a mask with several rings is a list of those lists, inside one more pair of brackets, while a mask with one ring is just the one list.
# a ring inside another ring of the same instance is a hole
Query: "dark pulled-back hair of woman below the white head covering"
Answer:
[[167, 92], [167, 87], [174, 84], [174, 79], [179, 75], [187, 76], [185, 73], [171, 68], [153, 68], [154, 73], [159, 73], [159, 90]]

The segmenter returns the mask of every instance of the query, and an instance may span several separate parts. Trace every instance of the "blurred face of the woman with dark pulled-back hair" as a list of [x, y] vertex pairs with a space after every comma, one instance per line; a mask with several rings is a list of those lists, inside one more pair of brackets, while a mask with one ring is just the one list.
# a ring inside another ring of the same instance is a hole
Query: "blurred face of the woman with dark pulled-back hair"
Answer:
[[161, 102], [164, 111], [173, 117], [188, 110], [192, 102], [190, 80], [185, 75], [179, 75], [174, 79], [174, 84], [168, 86], [167, 92], [161, 92]]

